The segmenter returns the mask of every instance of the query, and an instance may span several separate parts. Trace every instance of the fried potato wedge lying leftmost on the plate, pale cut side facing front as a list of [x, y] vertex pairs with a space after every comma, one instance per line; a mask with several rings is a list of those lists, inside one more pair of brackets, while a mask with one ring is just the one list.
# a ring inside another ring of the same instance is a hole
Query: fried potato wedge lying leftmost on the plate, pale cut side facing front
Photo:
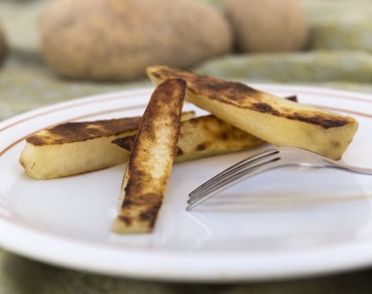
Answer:
[[[182, 119], [195, 116], [183, 112]], [[129, 153], [111, 141], [136, 134], [141, 116], [62, 123], [28, 136], [19, 161], [28, 176], [61, 178], [127, 162]]]

